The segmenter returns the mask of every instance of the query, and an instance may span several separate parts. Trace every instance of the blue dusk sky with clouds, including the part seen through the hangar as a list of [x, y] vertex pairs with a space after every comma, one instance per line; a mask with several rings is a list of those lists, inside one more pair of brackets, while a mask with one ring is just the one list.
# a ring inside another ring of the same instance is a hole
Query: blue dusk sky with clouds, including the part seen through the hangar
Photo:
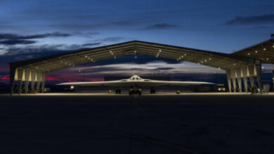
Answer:
[[[274, 33], [274, 1], [0, 0], [0, 82], [8, 62], [125, 41], [149, 41], [231, 53]], [[264, 72], [274, 68], [264, 64]], [[190, 62], [146, 55], [118, 57], [48, 73], [47, 80], [103, 76], [224, 73]]]

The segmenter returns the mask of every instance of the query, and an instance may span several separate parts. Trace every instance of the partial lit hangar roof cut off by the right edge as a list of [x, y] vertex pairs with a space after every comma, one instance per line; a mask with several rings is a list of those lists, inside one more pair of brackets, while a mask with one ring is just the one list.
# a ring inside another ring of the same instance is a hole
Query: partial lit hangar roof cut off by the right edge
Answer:
[[264, 63], [274, 64], [274, 39], [244, 48], [234, 52], [233, 55], [256, 57]]

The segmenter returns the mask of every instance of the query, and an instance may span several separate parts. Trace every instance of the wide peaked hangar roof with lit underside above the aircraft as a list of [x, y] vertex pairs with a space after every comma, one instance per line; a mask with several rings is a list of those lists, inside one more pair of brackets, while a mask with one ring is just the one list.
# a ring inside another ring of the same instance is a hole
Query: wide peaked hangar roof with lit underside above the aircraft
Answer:
[[78, 64], [136, 54], [195, 62], [197, 64], [212, 66], [219, 69], [235, 69], [242, 65], [254, 64], [254, 58], [243, 57], [241, 56], [242, 54], [226, 54], [174, 45], [164, 45], [144, 41], [129, 41], [114, 45], [105, 45], [97, 48], [79, 50], [76, 52], [67, 52], [60, 55], [13, 62], [11, 63], [11, 67], [20, 67], [23, 69], [31, 69], [47, 73], [59, 69], [65, 69], [70, 66], [76, 66]]

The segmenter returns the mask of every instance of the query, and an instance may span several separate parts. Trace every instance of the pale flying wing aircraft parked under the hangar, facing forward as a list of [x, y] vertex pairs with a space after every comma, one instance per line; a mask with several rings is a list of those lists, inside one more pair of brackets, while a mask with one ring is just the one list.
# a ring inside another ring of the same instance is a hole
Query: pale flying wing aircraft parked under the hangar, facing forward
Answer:
[[[166, 80], [150, 80], [141, 78], [140, 76], [134, 75], [131, 78], [122, 80], [110, 80], [110, 81], [100, 81], [100, 82], [77, 82], [77, 83], [60, 83], [58, 85], [110, 85], [113, 87], [130, 87], [129, 94], [131, 92], [141, 94], [141, 87], [150, 87], [150, 93], [155, 93], [153, 87], [159, 85], [202, 85], [202, 84], [214, 84], [207, 82], [193, 82], [193, 81], [166, 81]], [[138, 87], [138, 88], [137, 88]], [[116, 93], [121, 93], [121, 90], [116, 91]]]

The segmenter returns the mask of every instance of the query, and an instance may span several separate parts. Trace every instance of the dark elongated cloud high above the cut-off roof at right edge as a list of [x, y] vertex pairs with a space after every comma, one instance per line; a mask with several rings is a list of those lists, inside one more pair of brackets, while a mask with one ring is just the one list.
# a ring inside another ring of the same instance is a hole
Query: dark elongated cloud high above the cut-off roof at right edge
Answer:
[[271, 23], [274, 24], [274, 14], [235, 17], [233, 20], [228, 20], [226, 25], [260, 25]]

